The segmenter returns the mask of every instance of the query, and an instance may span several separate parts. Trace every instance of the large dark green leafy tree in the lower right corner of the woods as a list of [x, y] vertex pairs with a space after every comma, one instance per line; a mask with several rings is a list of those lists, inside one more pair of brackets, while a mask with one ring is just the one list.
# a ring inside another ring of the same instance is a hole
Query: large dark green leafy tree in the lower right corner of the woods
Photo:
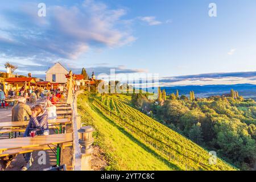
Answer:
[[216, 121], [214, 130], [217, 133], [218, 152], [241, 166], [246, 161], [256, 159], [256, 143], [248, 133], [248, 126], [239, 119], [220, 118]]

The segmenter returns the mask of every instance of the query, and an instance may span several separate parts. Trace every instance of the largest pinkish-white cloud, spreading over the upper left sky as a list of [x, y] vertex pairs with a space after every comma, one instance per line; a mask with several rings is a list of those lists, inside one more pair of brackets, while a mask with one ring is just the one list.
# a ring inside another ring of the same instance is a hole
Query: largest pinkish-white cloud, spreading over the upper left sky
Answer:
[[124, 9], [86, 0], [73, 6], [47, 6], [47, 16], [40, 18], [35, 3], [25, 4], [26, 9], [16, 14], [12, 10], [0, 14], [13, 23], [8, 27], [0, 24], [0, 53], [75, 60], [90, 48], [119, 47], [136, 40], [123, 19]]

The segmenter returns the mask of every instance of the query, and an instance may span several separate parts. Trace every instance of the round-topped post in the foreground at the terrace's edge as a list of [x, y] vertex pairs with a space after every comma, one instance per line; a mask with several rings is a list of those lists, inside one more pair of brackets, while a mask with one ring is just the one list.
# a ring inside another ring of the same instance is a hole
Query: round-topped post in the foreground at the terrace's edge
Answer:
[[81, 145], [81, 171], [91, 171], [93, 127], [82, 126], [78, 132], [80, 133], [79, 144]]

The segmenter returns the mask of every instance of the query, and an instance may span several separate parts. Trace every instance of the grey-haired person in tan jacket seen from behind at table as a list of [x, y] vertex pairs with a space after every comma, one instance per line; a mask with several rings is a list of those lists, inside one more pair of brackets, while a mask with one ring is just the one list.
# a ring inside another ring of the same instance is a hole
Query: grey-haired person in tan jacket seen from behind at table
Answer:
[[32, 111], [26, 104], [26, 98], [19, 97], [18, 104], [14, 105], [11, 110], [11, 121], [28, 121], [31, 114]]

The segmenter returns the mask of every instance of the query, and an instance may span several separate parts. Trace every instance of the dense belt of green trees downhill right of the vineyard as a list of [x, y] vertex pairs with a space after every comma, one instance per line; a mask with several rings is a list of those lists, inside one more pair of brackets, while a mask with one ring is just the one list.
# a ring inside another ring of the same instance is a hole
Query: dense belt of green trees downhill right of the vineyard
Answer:
[[256, 103], [244, 100], [237, 91], [228, 96], [167, 96], [159, 88], [158, 101], [146, 94], [133, 94], [131, 103], [150, 117], [217, 152], [240, 169], [252, 169], [256, 161]]

